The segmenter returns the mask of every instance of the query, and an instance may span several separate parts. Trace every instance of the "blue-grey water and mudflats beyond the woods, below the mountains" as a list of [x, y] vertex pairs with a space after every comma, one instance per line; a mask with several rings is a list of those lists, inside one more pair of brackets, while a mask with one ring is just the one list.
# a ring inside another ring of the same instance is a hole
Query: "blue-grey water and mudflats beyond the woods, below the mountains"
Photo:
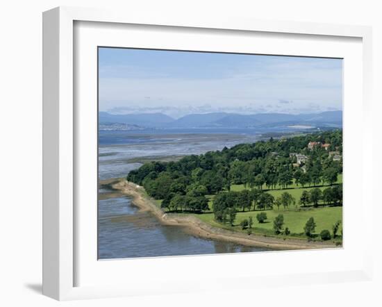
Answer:
[[126, 176], [142, 165], [137, 158], [204, 154], [258, 139], [252, 130], [247, 134], [244, 129], [210, 130], [99, 131], [99, 179]]

